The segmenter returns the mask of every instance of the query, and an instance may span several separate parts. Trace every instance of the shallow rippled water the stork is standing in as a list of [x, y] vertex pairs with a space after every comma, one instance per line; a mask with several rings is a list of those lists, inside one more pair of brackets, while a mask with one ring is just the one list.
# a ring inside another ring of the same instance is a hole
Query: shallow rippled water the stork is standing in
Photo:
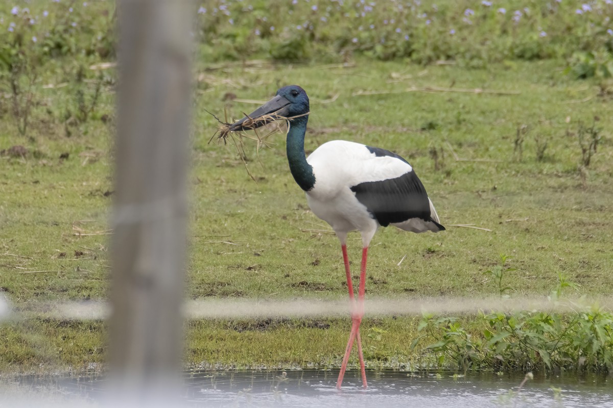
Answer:
[[[518, 392], [523, 376], [367, 371], [364, 390], [359, 371], [352, 370], [339, 391], [337, 375], [327, 370], [192, 371], [185, 374], [179, 406], [613, 408], [613, 379], [603, 376], [536, 375]], [[35, 400], [39, 407], [103, 406], [105, 385], [101, 377], [21, 377], [10, 387], [13, 396], [20, 395], [19, 401], [6, 406], [31, 406]], [[23, 393], [26, 388], [31, 391]], [[0, 406], [5, 406], [1, 397]]]

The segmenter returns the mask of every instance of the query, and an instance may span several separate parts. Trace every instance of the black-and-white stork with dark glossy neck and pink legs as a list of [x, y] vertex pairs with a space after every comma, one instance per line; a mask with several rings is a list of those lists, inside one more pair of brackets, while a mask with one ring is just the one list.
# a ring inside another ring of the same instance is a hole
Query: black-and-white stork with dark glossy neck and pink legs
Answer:
[[[338, 374], [341, 387], [354, 341], [360, 358], [362, 385], [367, 386], [364, 355], [360, 342], [360, 323], [364, 316], [364, 290], [368, 244], [379, 226], [393, 225], [405, 231], [443, 231], [432, 201], [424, 185], [408, 161], [389, 150], [364, 144], [334, 140], [322, 144], [305, 157], [305, 133], [309, 113], [307, 92], [299, 86], [285, 86], [276, 96], [253, 113], [232, 124], [229, 130], [253, 128], [255, 119], [276, 114], [289, 117], [287, 131], [287, 161], [297, 184], [307, 193], [311, 210], [332, 226], [341, 242], [349, 299], [351, 301], [351, 334], [345, 357]], [[264, 124], [265, 121], [259, 122]], [[354, 298], [347, 234], [360, 231], [362, 235], [362, 265], [357, 302]]]

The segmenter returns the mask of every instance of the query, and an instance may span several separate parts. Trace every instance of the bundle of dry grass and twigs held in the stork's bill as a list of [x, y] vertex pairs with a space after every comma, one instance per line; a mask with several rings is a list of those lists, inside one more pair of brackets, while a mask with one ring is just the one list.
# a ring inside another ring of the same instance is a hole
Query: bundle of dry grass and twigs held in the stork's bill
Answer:
[[[256, 142], [256, 154], [259, 161], [260, 147], [271, 147], [272, 145], [272, 143], [269, 143], [267, 141], [268, 137], [274, 135], [275, 133], [286, 132], [287, 127], [284, 126], [284, 124], [289, 124], [289, 121], [291, 121], [291, 119], [295, 119], [301, 116], [307, 116], [309, 114], [309, 112], [307, 112], [302, 115], [289, 117], [282, 116], [276, 112], [264, 114], [257, 117], [251, 117], [248, 114], [245, 114], [245, 119], [240, 125], [237, 126], [238, 122], [240, 121], [237, 121], [234, 124], [230, 124], [227, 122], [220, 121], [217, 116], [210, 112], [208, 113], [215, 117], [215, 119], [219, 122], [219, 127], [217, 128], [213, 136], [211, 136], [211, 139], [208, 141], [208, 143], [211, 143], [211, 141], [215, 139], [215, 136], [217, 136], [218, 141], [223, 139], [224, 144], [227, 143], [228, 138], [231, 138], [232, 142], [234, 143], [234, 146], [237, 149], [237, 153], [240, 157], [240, 160], [242, 160], [243, 165], [245, 165], [245, 169], [249, 174], [249, 177], [251, 177], [251, 179], [253, 179], [254, 181], [257, 180], [255, 179], [255, 177], [253, 177], [253, 174], [251, 174], [247, 166], [247, 157], [245, 154], [245, 144], [243, 144], [243, 139], [251, 139]], [[262, 129], [264, 129], [265, 132], [262, 132]], [[253, 134], [248, 133], [250, 131], [253, 131]], [[235, 138], [234, 135], [237, 135], [238, 138]], [[262, 162], [260, 161], [260, 164], [261, 163]]]

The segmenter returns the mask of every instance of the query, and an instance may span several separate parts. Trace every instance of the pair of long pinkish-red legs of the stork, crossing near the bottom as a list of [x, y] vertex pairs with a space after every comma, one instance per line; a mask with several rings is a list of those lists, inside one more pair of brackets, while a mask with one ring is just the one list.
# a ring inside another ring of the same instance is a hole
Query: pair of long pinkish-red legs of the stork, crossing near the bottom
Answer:
[[[343, 250], [343, 262], [345, 263], [345, 274], [347, 276], [347, 288], [349, 290], [349, 300], [351, 301], [351, 333], [349, 334], [349, 341], [347, 342], [347, 347], [345, 348], [345, 356], [343, 357], [343, 363], [341, 364], [341, 371], [338, 373], [337, 380], [337, 388], [341, 388], [341, 384], [343, 384], [343, 376], [345, 376], [345, 370], [347, 368], [347, 363], [349, 362], [349, 355], [351, 354], [351, 348], [353, 347], [353, 342], [357, 341], [357, 352], [360, 357], [360, 369], [362, 371], [362, 386], [364, 388], [367, 387], [366, 384], [366, 371], [364, 365], [364, 354], [362, 354], [362, 341], [360, 339], [360, 323], [362, 322], [362, 316], [364, 316], [364, 290], [365, 290], [365, 273], [366, 273], [366, 259], [365, 253], [368, 248], [364, 248], [362, 251], [362, 270], [360, 272], [360, 286], [358, 288], [358, 299], [360, 300], [361, 295], [361, 303], [362, 305], [357, 305], [356, 299], [353, 293], [353, 284], [351, 282], [351, 270], [349, 269], [349, 258], [347, 256], [347, 247], [346, 245], [341, 245], [341, 249]], [[360, 292], [361, 291], [361, 292]]]

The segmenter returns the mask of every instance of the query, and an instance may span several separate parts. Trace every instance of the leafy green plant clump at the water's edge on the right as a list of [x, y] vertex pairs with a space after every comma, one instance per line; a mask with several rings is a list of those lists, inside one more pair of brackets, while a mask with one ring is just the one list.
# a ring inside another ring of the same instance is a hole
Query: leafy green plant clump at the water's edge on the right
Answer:
[[[514, 270], [506, 267], [508, 259], [501, 254], [500, 265], [486, 272], [496, 278], [500, 295], [509, 290], [502, 284], [504, 272]], [[568, 289], [577, 291], [579, 285], [558, 275], [549, 299], [565, 300]], [[613, 314], [596, 305], [574, 308], [569, 314], [480, 313], [479, 320], [487, 326], [480, 335], [467, 332], [457, 317], [424, 314], [411, 349], [423, 339], [434, 339], [425, 350], [435, 354], [438, 365], [464, 371], [471, 367], [497, 371], [565, 368], [613, 373]]]

